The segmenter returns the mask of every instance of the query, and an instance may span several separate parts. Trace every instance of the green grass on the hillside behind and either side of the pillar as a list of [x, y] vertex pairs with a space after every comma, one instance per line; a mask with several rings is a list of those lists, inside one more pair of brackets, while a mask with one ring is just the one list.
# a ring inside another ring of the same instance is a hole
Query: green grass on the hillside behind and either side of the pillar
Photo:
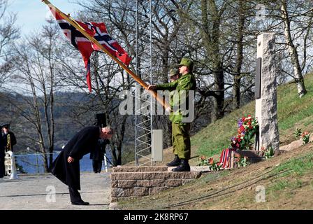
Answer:
[[[313, 121], [313, 74], [305, 76], [305, 87], [307, 94], [300, 99], [295, 83], [280, 85], [277, 89], [278, 127], [281, 136], [282, 133], [286, 134], [286, 130], [292, 129], [294, 132], [296, 127], [307, 127], [307, 131], [313, 131], [313, 126], [310, 127]], [[210, 157], [221, 153], [223, 148], [230, 146], [231, 137], [237, 134], [238, 119], [249, 114], [254, 116], [254, 111], [255, 102], [250, 102], [195, 134], [191, 138], [191, 144], [196, 146], [197, 154]]]

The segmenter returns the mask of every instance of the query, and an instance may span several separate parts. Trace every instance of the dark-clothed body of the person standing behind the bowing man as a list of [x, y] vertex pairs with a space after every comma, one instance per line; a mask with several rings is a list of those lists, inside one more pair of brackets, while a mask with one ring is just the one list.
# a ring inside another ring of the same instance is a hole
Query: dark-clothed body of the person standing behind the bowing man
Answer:
[[92, 168], [94, 173], [101, 173], [102, 161], [104, 160], [105, 146], [110, 144], [108, 139], [99, 139], [94, 151], [90, 153], [90, 160], [92, 160]]

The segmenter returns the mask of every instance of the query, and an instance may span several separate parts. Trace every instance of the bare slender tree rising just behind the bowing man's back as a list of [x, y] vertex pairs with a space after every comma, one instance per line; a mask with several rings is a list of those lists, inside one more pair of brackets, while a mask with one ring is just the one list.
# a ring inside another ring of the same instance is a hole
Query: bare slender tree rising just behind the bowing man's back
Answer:
[[[29, 148], [43, 153], [45, 172], [48, 172], [52, 164], [54, 150], [57, 31], [50, 22], [50, 25], [43, 27], [41, 35], [35, 34], [27, 38], [23, 44], [15, 45], [17, 72], [10, 78], [11, 83], [17, 83], [20, 87], [15, 91], [22, 93], [22, 102], [11, 104], [24, 118], [24, 125], [29, 127], [28, 133], [25, 133], [28, 135], [24, 136], [29, 139]], [[45, 153], [50, 153], [50, 156]]]

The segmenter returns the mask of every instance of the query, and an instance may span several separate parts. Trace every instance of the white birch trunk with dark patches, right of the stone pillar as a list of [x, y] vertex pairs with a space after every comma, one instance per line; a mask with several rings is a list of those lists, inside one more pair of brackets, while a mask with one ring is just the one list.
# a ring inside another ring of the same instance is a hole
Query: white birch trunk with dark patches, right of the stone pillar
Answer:
[[296, 46], [293, 44], [293, 40], [291, 38], [291, 28], [290, 28], [290, 20], [287, 11], [287, 3], [283, 1], [282, 3], [282, 18], [284, 19], [284, 35], [286, 38], [287, 48], [289, 50], [289, 54], [291, 57], [291, 64], [293, 65], [293, 75], [298, 87], [298, 95], [299, 97], [303, 97], [307, 90], [305, 89], [305, 81], [303, 79], [301, 66], [299, 62], [299, 56]]

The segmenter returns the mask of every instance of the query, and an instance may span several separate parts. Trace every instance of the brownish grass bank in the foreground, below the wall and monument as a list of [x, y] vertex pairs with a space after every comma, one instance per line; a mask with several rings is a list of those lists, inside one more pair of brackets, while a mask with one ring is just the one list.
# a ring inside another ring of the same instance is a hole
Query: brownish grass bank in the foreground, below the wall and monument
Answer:
[[[313, 144], [238, 169], [200, 179], [157, 195], [124, 200], [119, 209], [312, 209]], [[264, 191], [264, 202], [259, 190]]]

